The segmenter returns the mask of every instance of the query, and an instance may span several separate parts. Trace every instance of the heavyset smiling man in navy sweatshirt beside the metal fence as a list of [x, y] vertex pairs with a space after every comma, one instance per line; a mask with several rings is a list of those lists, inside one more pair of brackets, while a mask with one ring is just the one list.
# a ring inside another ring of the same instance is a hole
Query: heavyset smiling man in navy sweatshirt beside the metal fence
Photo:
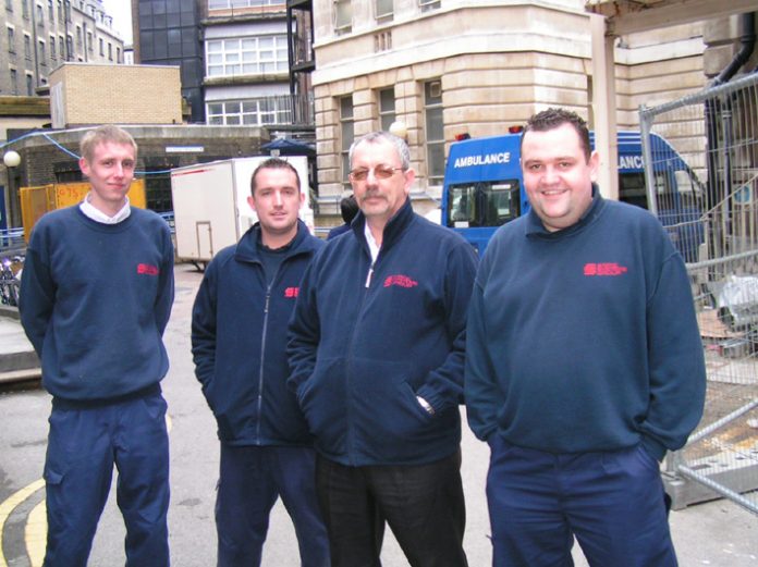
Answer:
[[531, 210], [498, 230], [468, 316], [466, 407], [491, 448], [496, 566], [676, 565], [659, 460], [697, 426], [702, 345], [684, 262], [647, 211], [602, 199], [585, 122], [522, 137]]

